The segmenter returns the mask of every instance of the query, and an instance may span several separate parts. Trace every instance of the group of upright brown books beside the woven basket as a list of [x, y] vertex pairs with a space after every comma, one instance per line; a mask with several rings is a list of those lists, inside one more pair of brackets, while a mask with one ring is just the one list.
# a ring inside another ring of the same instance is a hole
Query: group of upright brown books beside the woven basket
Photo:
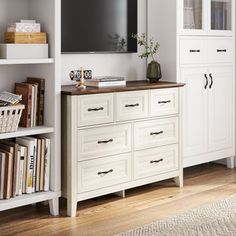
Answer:
[[45, 79], [27, 78], [27, 82], [16, 83], [15, 93], [22, 96], [25, 105], [20, 126], [32, 128], [43, 125]]

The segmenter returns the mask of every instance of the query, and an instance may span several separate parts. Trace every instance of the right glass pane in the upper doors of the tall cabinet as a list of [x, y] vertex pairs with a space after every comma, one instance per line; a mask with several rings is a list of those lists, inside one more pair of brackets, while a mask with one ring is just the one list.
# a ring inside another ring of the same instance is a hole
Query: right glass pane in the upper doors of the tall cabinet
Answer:
[[232, 30], [232, 0], [211, 0], [211, 31]]

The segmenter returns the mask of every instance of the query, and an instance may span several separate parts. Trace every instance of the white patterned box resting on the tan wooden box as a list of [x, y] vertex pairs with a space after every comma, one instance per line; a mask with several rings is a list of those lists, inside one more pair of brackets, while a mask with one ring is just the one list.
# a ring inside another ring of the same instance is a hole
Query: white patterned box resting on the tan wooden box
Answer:
[[7, 32], [40, 32], [41, 26], [39, 23], [10, 23], [7, 27]]

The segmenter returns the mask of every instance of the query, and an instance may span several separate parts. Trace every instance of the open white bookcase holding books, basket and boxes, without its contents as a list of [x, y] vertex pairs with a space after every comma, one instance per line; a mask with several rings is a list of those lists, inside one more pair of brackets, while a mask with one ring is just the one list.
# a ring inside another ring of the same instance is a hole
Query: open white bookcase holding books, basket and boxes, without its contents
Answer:
[[19, 128], [15, 133], [0, 134], [0, 139], [44, 134], [52, 140], [50, 191], [26, 194], [9, 200], [0, 200], [0, 211], [49, 201], [50, 213], [58, 215], [60, 183], [60, 1], [59, 0], [0, 0], [0, 42], [7, 23], [20, 19], [35, 19], [48, 34], [48, 59], [0, 59], [0, 90], [14, 91], [15, 82], [26, 77], [46, 79], [45, 126]]

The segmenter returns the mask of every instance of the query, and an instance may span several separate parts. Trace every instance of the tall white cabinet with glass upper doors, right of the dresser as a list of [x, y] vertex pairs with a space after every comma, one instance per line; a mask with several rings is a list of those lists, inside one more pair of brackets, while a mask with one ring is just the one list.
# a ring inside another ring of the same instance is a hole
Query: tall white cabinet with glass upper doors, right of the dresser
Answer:
[[235, 156], [235, 0], [147, 0], [164, 80], [183, 92], [183, 166]]

